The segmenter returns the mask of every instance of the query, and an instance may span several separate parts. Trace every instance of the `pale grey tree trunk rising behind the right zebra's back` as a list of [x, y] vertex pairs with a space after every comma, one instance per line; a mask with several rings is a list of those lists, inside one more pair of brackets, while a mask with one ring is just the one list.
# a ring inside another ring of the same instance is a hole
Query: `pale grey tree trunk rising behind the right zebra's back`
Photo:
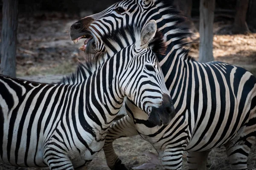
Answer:
[[201, 0], [199, 62], [214, 60], [212, 53], [214, 9], [215, 0]]

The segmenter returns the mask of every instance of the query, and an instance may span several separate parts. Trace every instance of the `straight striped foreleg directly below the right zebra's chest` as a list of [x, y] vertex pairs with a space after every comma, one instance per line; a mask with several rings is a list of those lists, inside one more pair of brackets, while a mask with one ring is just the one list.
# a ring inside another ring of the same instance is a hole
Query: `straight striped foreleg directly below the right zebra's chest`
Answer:
[[183, 148], [177, 149], [177, 147], [168, 147], [160, 151], [163, 170], [181, 170], [183, 152]]

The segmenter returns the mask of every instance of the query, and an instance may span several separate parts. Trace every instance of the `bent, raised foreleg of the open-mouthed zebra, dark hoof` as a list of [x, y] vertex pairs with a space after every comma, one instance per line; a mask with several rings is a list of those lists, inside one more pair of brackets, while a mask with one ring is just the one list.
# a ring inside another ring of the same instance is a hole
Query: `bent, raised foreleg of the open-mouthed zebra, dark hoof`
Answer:
[[128, 170], [116, 155], [113, 149], [113, 141], [121, 137], [135, 135], [138, 135], [137, 130], [134, 127], [133, 120], [128, 115], [111, 125], [103, 147], [108, 167], [111, 170]]

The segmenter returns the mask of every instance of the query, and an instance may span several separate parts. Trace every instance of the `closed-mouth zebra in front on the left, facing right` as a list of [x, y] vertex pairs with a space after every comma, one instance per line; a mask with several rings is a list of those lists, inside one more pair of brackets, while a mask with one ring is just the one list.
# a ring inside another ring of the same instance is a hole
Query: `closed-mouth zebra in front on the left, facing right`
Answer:
[[80, 63], [76, 73], [57, 84], [0, 76], [0, 162], [86, 168], [102, 149], [125, 96], [148, 122], [169, 124], [175, 109], [154, 51], [154, 46], [166, 47], [156, 22], [125, 32], [137, 41], [113, 57]]

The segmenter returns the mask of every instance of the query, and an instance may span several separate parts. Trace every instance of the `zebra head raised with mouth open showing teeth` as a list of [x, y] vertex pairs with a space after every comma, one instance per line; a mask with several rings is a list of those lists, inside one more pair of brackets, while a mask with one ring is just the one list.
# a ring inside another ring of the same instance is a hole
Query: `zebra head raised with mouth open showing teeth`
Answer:
[[149, 20], [156, 20], [157, 27], [163, 27], [161, 31], [165, 34], [169, 27], [181, 22], [182, 18], [175, 17], [177, 11], [171, 6], [172, 0], [122, 0], [74, 23], [70, 27], [70, 37], [74, 42], [85, 38], [80, 49], [86, 53], [112, 52], [110, 48], [105, 48], [102, 37], [114, 30], [128, 25], [143, 28]]

